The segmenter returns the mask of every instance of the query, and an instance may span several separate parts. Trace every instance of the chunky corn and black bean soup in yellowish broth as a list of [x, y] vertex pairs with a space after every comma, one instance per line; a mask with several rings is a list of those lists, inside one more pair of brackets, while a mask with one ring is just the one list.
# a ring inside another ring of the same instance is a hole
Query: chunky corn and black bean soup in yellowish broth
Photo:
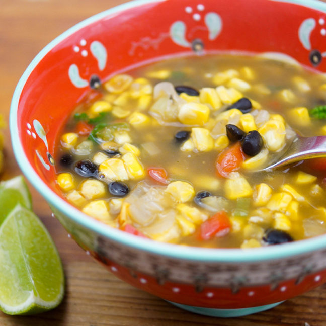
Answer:
[[175, 58], [94, 88], [58, 139], [67, 201], [157, 241], [253, 248], [326, 233], [324, 162], [257, 172], [326, 135], [326, 78], [261, 57]]

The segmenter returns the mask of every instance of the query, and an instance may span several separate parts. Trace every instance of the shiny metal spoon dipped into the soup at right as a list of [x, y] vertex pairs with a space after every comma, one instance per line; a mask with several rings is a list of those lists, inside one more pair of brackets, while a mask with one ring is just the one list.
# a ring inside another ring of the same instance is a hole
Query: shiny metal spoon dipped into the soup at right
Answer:
[[303, 159], [322, 156], [326, 156], [326, 136], [296, 136], [284, 154], [273, 164], [259, 171], [268, 171]]

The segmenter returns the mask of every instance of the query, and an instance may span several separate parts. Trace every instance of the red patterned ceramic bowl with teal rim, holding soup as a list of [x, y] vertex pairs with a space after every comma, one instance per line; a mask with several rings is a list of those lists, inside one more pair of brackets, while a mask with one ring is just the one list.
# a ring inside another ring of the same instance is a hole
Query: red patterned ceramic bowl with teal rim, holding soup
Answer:
[[80, 247], [120, 279], [187, 310], [240, 316], [326, 282], [326, 235], [257, 249], [207, 249], [136, 237], [69, 204], [55, 143], [75, 106], [117, 72], [209, 53], [278, 57], [326, 71], [326, 4], [277, 0], [138, 0], [95, 15], [49, 43], [15, 90], [18, 163]]

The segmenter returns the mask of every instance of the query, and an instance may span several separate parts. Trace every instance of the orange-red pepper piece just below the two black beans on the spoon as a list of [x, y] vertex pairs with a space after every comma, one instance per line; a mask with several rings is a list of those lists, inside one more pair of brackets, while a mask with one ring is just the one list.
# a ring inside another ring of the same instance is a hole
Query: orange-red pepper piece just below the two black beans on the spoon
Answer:
[[246, 156], [242, 151], [241, 143], [235, 143], [218, 155], [215, 163], [216, 174], [227, 177], [230, 172], [240, 169], [245, 158]]

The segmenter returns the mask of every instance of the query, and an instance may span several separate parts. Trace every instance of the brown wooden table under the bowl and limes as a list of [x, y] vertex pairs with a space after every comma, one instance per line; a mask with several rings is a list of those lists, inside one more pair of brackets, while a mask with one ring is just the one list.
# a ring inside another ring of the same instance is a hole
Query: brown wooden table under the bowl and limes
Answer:
[[[11, 97], [33, 57], [53, 38], [77, 22], [123, 0], [0, 0], [0, 113], [8, 120]], [[2, 179], [20, 174], [6, 130], [6, 170]], [[62, 304], [36, 316], [8, 316], [2, 326], [324, 326], [326, 286], [278, 307], [232, 319], [204, 317], [120, 281], [69, 239], [43, 198], [30, 186], [34, 211], [49, 229], [62, 258], [66, 295]], [[1, 263], [1, 262], [0, 262]]]

